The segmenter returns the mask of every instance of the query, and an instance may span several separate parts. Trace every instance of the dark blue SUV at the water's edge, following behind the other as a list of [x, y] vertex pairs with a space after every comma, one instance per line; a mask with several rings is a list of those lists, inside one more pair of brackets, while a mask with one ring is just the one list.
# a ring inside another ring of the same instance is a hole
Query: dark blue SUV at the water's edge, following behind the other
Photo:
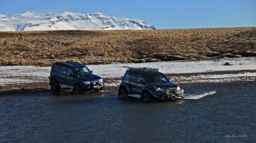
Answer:
[[103, 90], [104, 82], [98, 75], [92, 74], [87, 66], [74, 61], [61, 61], [52, 64], [50, 86], [54, 92], [59, 92], [61, 86], [73, 89], [73, 93], [98, 92]]

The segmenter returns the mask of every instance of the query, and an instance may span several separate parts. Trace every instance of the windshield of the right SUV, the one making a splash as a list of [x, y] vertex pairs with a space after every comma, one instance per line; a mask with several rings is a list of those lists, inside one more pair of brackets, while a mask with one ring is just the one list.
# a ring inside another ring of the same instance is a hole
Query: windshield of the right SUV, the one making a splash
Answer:
[[168, 82], [167, 77], [162, 73], [149, 73], [145, 75], [145, 82]]

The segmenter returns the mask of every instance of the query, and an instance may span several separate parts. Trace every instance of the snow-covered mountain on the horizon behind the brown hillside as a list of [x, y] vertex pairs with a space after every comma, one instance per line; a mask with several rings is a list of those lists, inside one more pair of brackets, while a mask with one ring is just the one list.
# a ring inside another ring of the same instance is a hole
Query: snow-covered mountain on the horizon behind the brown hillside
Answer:
[[31, 30], [146, 30], [155, 29], [140, 19], [109, 17], [103, 13], [80, 14], [22, 12], [17, 15], [0, 15], [0, 31]]

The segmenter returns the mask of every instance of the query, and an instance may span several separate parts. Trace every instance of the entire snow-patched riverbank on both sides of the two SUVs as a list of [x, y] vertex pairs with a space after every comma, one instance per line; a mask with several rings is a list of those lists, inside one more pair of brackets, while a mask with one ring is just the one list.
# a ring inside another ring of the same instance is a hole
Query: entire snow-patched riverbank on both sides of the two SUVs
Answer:
[[[228, 62], [232, 66], [224, 66]], [[167, 61], [142, 64], [107, 64], [89, 65], [94, 74], [103, 78], [122, 77], [127, 67], [159, 68], [160, 72], [171, 73], [201, 73], [188, 76], [170, 77], [178, 84], [215, 83], [215, 82], [243, 82], [256, 81], [256, 72], [241, 72], [237, 74], [212, 74], [216, 71], [256, 70], [256, 57], [242, 57], [234, 59], [216, 59], [204, 61]], [[0, 66], [0, 86], [7, 84], [26, 84], [33, 82], [48, 82], [51, 67], [37, 66]], [[210, 73], [210, 74], [208, 74]], [[117, 86], [121, 81], [113, 79], [106, 86]]]

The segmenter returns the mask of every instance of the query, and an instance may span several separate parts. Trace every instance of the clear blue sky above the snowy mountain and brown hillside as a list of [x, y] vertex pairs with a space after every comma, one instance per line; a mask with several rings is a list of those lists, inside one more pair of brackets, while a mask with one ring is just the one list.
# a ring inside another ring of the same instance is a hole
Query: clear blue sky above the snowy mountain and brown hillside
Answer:
[[95, 13], [142, 19], [157, 29], [256, 26], [256, 0], [0, 0], [0, 14]]

